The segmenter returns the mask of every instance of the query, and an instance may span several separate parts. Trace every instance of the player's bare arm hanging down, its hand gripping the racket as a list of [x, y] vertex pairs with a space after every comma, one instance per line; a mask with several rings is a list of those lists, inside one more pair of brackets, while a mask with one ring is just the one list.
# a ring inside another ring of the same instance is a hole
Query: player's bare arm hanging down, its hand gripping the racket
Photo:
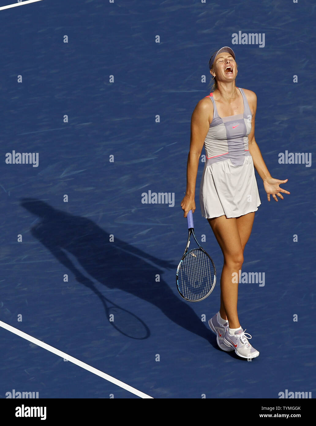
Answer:
[[[203, 149], [207, 132], [210, 128], [209, 117], [213, 110], [213, 102], [203, 98], [196, 105], [191, 117], [190, 151], [187, 161], [187, 190], [181, 201], [184, 217], [192, 210], [195, 211], [195, 184], [198, 173], [198, 162]], [[213, 117], [213, 112], [211, 117]]]

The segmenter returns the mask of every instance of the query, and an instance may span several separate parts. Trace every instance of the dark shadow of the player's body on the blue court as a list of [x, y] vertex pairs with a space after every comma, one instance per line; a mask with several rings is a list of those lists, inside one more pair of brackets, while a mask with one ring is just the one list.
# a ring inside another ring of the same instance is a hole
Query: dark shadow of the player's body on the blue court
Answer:
[[[116, 237], [114, 242], [110, 242], [109, 233], [90, 219], [57, 210], [37, 199], [20, 201], [26, 210], [40, 219], [32, 227], [32, 235], [75, 274], [78, 282], [90, 288], [101, 300], [102, 294], [94, 282], [75, 267], [67, 252], [76, 257], [93, 279], [107, 288], [118, 288], [152, 303], [169, 320], [218, 348], [215, 336], [206, 327], [207, 322], [202, 322], [188, 302], [175, 296], [169, 285], [161, 279], [164, 270], [174, 269], [175, 265], [157, 259]], [[155, 281], [157, 274], [160, 275], [160, 282]], [[128, 309], [132, 311], [132, 307]], [[164, 332], [162, 329], [161, 333]]]

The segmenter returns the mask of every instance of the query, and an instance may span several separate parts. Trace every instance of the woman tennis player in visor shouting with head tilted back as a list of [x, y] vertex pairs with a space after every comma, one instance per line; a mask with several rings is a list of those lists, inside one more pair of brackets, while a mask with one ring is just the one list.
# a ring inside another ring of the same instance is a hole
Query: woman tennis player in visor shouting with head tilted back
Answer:
[[[261, 204], [254, 172], [263, 180], [267, 199], [283, 200], [285, 180], [271, 177], [255, 140], [257, 97], [236, 87], [237, 64], [233, 50], [224, 46], [210, 59], [215, 81], [213, 92], [201, 99], [191, 118], [190, 152], [187, 161], [187, 190], [181, 207], [184, 217], [195, 211], [195, 184], [203, 146], [206, 162], [200, 186], [202, 216], [207, 218], [224, 255], [221, 273], [221, 305], [209, 320], [218, 346], [235, 350], [242, 358], [258, 357], [250, 345], [252, 336], [241, 328], [237, 313], [238, 283], [244, 248], [250, 237], [255, 212]], [[236, 275], [237, 273], [237, 275]]]

